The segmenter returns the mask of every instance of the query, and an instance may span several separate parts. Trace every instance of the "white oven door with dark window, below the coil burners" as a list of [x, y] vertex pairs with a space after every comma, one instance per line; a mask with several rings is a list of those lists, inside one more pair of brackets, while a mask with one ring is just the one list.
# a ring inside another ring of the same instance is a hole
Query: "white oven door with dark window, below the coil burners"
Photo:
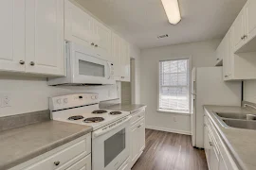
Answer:
[[[115, 125], [115, 123], [113, 124]], [[93, 132], [92, 140], [92, 169], [117, 170], [129, 158], [130, 121], [129, 118], [117, 127], [101, 135]]]

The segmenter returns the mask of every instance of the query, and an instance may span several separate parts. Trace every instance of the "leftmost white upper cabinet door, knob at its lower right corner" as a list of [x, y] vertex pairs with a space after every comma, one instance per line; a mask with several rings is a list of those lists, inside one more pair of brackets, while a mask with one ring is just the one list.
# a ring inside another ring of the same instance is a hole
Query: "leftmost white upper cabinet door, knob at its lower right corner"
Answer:
[[25, 0], [0, 1], [0, 70], [25, 71]]

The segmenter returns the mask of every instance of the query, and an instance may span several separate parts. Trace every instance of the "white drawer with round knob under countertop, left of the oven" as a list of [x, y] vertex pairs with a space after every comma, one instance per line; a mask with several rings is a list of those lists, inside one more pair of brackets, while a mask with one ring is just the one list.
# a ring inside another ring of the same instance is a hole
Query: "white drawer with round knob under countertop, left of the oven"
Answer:
[[70, 142], [72, 144], [65, 144], [56, 148], [56, 151], [52, 154], [44, 154], [35, 158], [39, 160], [32, 165], [25, 168], [26, 170], [59, 170], [65, 169], [68, 166], [74, 164], [76, 161], [81, 160], [82, 157], [85, 157], [91, 153], [91, 134], [87, 134], [80, 138], [76, 143]]

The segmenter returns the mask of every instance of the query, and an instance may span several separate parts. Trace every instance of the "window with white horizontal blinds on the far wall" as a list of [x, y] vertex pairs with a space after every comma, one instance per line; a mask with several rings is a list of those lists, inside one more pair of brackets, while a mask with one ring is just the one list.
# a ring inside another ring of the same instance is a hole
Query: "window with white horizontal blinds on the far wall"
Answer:
[[190, 111], [189, 59], [159, 61], [159, 110]]

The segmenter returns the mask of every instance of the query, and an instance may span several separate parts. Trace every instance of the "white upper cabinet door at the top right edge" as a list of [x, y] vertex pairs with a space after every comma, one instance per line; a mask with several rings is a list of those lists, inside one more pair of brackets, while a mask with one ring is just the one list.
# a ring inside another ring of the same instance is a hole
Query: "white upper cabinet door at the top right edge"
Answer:
[[[246, 5], [246, 34], [247, 34], [247, 39], [250, 40], [256, 36], [256, 1], [255, 0], [248, 0], [247, 5]], [[246, 39], [246, 40], [247, 40]]]

